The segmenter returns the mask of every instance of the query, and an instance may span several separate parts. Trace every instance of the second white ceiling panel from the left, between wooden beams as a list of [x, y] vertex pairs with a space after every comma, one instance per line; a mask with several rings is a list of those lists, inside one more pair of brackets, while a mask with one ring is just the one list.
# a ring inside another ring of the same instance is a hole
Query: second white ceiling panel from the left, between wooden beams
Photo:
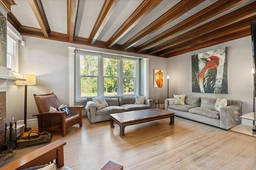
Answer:
[[51, 0], [41, 2], [51, 31], [67, 34], [67, 1]]

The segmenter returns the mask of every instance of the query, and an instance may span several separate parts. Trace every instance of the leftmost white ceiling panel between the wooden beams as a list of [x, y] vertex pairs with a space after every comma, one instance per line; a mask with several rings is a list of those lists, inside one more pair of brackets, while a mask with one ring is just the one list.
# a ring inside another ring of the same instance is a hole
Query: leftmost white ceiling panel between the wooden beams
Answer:
[[27, 0], [15, 0], [17, 5], [11, 6], [11, 11], [23, 26], [39, 28], [40, 26]]

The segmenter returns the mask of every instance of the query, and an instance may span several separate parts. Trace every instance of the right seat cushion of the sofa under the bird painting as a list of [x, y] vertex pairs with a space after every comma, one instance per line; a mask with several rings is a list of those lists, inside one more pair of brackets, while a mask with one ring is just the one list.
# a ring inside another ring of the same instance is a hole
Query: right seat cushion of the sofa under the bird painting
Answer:
[[207, 107], [197, 107], [188, 110], [189, 113], [199, 114], [211, 118], [220, 118], [220, 112]]

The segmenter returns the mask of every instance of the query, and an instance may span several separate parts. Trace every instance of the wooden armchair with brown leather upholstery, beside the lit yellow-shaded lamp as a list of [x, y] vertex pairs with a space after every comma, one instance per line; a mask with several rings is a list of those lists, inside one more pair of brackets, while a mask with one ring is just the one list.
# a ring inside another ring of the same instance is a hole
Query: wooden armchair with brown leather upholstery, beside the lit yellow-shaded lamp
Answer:
[[39, 132], [62, 132], [62, 137], [66, 136], [66, 129], [79, 124], [82, 127], [83, 106], [68, 107], [71, 116], [66, 117], [65, 111], [49, 112], [50, 106], [58, 108], [60, 106], [57, 96], [54, 93], [36, 95], [35, 103], [39, 114], [33, 115], [38, 119]]

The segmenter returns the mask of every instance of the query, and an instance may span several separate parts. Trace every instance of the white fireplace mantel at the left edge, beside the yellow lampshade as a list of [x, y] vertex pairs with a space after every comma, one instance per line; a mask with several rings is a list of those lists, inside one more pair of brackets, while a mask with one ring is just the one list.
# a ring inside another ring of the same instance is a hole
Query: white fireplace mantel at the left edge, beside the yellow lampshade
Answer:
[[10, 68], [4, 67], [0, 65], [0, 92], [8, 91], [9, 86], [15, 82], [16, 80], [25, 80], [25, 79], [17, 79], [14, 76], [10, 76]]

